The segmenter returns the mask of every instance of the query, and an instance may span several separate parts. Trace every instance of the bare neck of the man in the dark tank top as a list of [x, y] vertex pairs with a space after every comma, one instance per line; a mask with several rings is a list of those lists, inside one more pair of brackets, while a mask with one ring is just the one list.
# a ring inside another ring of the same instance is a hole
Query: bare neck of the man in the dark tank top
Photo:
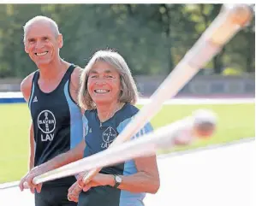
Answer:
[[40, 78], [42, 79], [55, 79], [59, 74], [62, 74], [63, 68], [68, 67], [68, 62], [58, 59], [56, 62], [51, 62], [47, 65], [38, 66], [40, 71]]

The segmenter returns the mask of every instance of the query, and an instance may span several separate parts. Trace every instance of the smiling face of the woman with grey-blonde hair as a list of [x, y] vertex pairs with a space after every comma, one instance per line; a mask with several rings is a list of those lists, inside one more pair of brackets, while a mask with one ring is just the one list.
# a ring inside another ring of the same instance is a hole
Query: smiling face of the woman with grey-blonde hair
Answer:
[[117, 102], [121, 90], [120, 75], [110, 64], [96, 62], [88, 74], [87, 88], [96, 105]]

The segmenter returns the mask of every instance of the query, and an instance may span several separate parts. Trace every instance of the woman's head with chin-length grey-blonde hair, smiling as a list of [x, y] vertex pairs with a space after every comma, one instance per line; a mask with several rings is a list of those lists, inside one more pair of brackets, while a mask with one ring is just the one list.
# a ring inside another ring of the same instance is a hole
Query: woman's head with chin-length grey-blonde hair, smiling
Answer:
[[79, 103], [94, 109], [98, 103], [136, 103], [137, 87], [128, 64], [117, 52], [99, 50], [80, 77]]

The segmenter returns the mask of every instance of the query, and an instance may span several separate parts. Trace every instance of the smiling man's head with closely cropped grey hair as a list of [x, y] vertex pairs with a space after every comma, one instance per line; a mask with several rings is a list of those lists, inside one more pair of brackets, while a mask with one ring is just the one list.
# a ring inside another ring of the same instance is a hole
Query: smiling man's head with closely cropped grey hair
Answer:
[[60, 58], [63, 36], [55, 21], [45, 16], [36, 16], [24, 26], [24, 45], [27, 54], [39, 67]]

